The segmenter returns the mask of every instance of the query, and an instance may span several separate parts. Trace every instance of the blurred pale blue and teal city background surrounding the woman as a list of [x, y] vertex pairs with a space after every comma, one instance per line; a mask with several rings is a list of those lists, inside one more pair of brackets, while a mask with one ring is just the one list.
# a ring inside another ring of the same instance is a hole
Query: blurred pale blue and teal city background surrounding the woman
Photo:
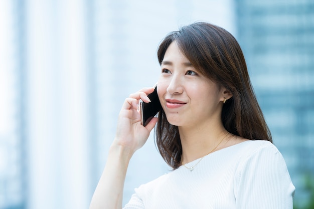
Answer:
[[[314, 208], [313, 0], [0, 0], [0, 209], [88, 208], [124, 98], [158, 80], [163, 37], [196, 21], [239, 41], [294, 208]], [[123, 202], [169, 171], [152, 133]]]

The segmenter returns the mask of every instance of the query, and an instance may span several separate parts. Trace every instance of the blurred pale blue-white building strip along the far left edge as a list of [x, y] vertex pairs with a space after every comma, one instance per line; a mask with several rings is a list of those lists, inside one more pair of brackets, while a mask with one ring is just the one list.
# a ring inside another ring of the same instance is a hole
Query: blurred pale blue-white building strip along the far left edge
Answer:
[[23, 12], [18, 1], [0, 8], [0, 208], [25, 208]]

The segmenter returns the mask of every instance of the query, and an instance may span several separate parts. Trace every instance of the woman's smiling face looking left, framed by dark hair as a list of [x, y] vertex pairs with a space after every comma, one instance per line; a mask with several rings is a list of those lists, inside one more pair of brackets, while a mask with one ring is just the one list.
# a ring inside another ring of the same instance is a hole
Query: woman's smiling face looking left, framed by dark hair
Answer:
[[173, 42], [162, 62], [157, 91], [169, 123], [199, 126], [221, 122], [225, 88], [201, 75]]

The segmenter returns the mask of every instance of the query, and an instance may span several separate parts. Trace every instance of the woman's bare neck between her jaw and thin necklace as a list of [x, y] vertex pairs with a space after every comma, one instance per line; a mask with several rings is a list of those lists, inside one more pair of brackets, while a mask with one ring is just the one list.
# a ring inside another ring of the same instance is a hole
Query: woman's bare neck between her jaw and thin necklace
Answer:
[[228, 132], [222, 124], [218, 124], [194, 128], [179, 127], [179, 133], [183, 151], [182, 160], [188, 163], [207, 155], [213, 149], [215, 149], [213, 151], [219, 150]]

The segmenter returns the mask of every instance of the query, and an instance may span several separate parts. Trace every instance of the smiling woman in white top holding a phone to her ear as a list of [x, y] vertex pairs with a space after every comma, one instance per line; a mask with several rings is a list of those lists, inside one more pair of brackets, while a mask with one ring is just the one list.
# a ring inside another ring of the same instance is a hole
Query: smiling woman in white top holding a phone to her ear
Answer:
[[140, 124], [131, 94], [90, 208], [121, 208], [128, 162], [156, 124], [156, 143], [173, 171], [135, 189], [125, 208], [292, 208], [294, 186], [257, 103], [245, 60], [222, 28], [195, 23], [158, 50], [163, 110]]

